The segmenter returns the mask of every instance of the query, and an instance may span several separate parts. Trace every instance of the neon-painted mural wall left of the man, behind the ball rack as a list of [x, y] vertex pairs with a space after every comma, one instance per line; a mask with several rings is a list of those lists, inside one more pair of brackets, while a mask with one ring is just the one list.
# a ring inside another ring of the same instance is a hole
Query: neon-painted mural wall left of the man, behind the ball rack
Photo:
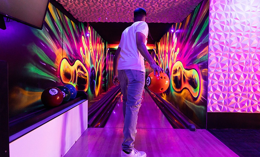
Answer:
[[42, 30], [16, 21], [6, 25], [0, 30], [0, 59], [9, 64], [11, 117], [43, 107], [47, 87], [72, 84], [89, 100], [110, 87], [108, 44], [89, 24], [75, 24], [50, 3]]

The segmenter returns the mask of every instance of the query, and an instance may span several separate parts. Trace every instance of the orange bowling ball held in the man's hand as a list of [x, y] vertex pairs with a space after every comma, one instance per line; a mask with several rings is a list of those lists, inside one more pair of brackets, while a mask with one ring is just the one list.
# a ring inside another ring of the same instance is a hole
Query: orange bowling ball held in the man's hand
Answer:
[[155, 75], [154, 72], [148, 75], [146, 78], [146, 85], [148, 89], [154, 93], [163, 93], [169, 87], [170, 79], [166, 73], [160, 73], [159, 76], [156, 71]]

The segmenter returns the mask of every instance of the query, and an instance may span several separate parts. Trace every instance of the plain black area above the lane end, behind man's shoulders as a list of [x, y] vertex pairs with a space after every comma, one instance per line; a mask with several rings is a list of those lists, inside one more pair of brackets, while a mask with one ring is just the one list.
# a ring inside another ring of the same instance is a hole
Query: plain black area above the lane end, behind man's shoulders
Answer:
[[[123, 31], [132, 25], [128, 22], [88, 22], [108, 44], [119, 44]], [[154, 44], [169, 30], [172, 23], [148, 23], [150, 35], [147, 44]], [[153, 40], [152, 40], [153, 39]]]

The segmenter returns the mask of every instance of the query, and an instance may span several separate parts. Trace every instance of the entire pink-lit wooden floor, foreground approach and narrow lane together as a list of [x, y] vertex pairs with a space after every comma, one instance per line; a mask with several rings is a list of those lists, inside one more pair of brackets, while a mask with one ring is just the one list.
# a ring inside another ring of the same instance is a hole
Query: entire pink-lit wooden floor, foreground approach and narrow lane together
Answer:
[[[119, 157], [123, 142], [122, 99], [105, 128], [88, 128], [65, 157]], [[148, 157], [236, 157], [205, 129], [173, 129], [148, 93], [138, 113], [134, 147]]]

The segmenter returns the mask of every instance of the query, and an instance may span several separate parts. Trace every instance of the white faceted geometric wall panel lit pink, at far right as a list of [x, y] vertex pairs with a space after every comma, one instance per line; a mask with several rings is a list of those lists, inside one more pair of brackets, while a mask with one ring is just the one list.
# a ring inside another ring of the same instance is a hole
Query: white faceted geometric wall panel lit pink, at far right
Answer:
[[209, 4], [208, 112], [260, 113], [260, 1]]

